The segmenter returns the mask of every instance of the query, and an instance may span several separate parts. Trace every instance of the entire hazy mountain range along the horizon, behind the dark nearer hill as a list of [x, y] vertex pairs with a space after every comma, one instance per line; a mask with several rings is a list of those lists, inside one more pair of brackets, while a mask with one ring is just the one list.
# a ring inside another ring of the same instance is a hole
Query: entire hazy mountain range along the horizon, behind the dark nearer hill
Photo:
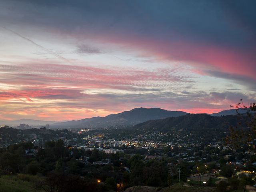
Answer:
[[[241, 112], [241, 111], [240, 111]], [[246, 112], [246, 111], [242, 111]], [[241, 112], [241, 113], [242, 113]], [[183, 111], [168, 111], [160, 108], [134, 108], [130, 111], [124, 111], [118, 114], [110, 114], [105, 117], [92, 117], [81, 120], [72, 120], [66, 122], [42, 121], [21, 119], [14, 121], [1, 121], [0, 124], [17, 126], [20, 123], [32, 126], [45, 126], [50, 124], [51, 128], [102, 128], [106, 126], [131, 126], [148, 120], [164, 119], [169, 117], [184, 116], [189, 113]], [[236, 109], [224, 110], [218, 113], [210, 114], [210, 116], [227, 116], [235, 115]], [[209, 114], [208, 114], [209, 116]]]

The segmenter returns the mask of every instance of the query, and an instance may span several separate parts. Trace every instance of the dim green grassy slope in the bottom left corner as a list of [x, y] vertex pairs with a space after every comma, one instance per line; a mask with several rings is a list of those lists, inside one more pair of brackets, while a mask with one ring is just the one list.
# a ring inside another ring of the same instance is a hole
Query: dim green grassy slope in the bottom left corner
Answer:
[[43, 192], [36, 189], [38, 182], [40, 182], [38, 176], [4, 175], [0, 177], [0, 192]]

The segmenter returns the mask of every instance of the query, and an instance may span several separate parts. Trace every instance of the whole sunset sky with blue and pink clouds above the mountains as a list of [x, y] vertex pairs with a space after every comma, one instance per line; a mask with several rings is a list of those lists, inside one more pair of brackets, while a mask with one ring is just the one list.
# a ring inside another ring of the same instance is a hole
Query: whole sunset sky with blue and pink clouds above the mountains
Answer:
[[0, 0], [0, 119], [256, 100], [254, 0]]

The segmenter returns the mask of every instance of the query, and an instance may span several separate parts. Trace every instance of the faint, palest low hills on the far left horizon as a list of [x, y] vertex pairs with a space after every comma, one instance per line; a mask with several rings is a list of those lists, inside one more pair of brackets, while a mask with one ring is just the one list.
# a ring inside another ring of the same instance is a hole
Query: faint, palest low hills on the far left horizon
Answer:
[[56, 121], [42, 121], [42, 120], [34, 120], [34, 119], [19, 119], [13, 121], [0, 120], [0, 125], [8, 125], [8, 126], [17, 126], [21, 123], [25, 123], [31, 126], [45, 126], [46, 124], [53, 124]]

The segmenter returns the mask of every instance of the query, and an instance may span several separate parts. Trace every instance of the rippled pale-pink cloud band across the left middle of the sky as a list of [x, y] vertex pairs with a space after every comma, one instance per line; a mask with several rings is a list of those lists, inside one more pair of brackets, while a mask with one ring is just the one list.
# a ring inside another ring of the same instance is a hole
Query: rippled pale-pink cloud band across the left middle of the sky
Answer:
[[[76, 86], [80, 88], [113, 88], [129, 90], [132, 87], [153, 87], [152, 82], [181, 83], [192, 82], [173, 70], [143, 71], [125, 68], [103, 69], [95, 67], [71, 66], [62, 64], [26, 64], [4, 66], [6, 73], [0, 80], [6, 84], [30, 86]], [[159, 83], [158, 83], [159, 84]]]

